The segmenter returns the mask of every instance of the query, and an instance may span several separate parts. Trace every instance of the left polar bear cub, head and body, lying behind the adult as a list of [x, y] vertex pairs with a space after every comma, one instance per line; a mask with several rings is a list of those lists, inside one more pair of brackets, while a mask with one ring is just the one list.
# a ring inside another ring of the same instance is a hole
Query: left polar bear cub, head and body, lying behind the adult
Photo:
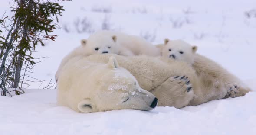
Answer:
[[[132, 55], [148, 55], [159, 56], [160, 49], [156, 48], [150, 42], [135, 35], [128, 35], [121, 32], [113, 32], [102, 30], [93, 33], [89, 38], [82, 39], [81, 45], [66, 55], [59, 66], [58, 71], [62, 66], [69, 61], [70, 58], [79, 55], [93, 55], [111, 53], [124, 56]], [[55, 76], [58, 76], [56, 72]], [[56, 77], [55, 77], [56, 79]]]

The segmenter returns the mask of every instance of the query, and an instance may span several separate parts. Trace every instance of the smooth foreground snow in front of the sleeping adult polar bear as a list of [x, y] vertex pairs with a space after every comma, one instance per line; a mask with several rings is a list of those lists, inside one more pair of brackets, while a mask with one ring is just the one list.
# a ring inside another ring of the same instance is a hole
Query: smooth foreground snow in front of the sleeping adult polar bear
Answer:
[[2, 135], [255, 135], [256, 92], [183, 109], [76, 113], [56, 106], [56, 90], [0, 96]]

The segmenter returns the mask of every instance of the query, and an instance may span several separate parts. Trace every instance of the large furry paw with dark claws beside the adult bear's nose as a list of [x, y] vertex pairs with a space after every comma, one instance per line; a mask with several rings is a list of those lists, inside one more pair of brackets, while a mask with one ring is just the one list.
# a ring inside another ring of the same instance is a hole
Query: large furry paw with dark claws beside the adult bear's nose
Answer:
[[158, 106], [182, 108], [194, 98], [194, 90], [187, 76], [169, 77], [151, 91], [158, 98]]

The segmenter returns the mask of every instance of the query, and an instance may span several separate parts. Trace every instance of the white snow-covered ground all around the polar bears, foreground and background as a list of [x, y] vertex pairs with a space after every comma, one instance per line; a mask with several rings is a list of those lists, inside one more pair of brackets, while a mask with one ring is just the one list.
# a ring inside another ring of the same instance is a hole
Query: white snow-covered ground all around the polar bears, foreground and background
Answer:
[[[0, 1], [0, 16], [10, 0]], [[164, 38], [184, 39], [198, 53], [217, 61], [256, 90], [255, 0], [73, 0], [60, 2], [56, 42], [37, 48], [34, 67], [46, 87], [61, 59], [91, 32], [105, 28], [146, 37], [154, 44]], [[7, 11], [7, 15], [10, 11]], [[250, 17], [248, 17], [248, 14]], [[83, 28], [84, 32], [77, 31]], [[42, 60], [42, 59], [41, 59]], [[53, 82], [52, 80], [52, 82]], [[52, 87], [54, 88], [54, 87]], [[256, 135], [256, 92], [183, 109], [157, 107], [144, 112], [115, 110], [81, 114], [56, 106], [56, 90], [26, 90], [0, 96], [1, 135]]]

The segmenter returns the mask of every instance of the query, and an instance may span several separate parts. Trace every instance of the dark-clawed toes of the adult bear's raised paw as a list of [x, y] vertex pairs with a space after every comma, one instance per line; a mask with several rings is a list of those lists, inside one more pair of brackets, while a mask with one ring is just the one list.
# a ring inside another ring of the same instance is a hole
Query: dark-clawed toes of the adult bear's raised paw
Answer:
[[188, 79], [187, 76], [175, 76], [175, 77], [172, 77], [172, 80], [171, 82], [173, 83], [177, 83], [181, 89], [185, 89], [184, 92], [190, 92], [190, 91], [193, 91], [193, 87], [190, 83], [190, 80]]

